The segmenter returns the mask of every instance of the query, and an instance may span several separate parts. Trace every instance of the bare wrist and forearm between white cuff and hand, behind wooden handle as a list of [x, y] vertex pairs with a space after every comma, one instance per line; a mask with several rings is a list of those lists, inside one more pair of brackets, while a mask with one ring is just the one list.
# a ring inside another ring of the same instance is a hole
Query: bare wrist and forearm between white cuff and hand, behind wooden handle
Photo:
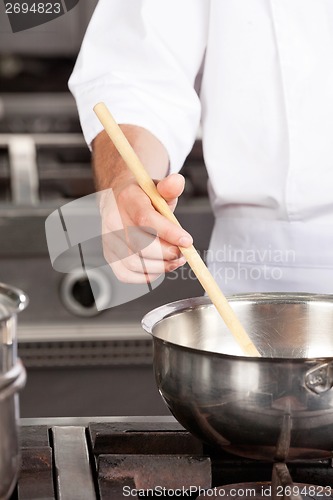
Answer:
[[[121, 129], [151, 177], [154, 179], [165, 177], [168, 173], [169, 159], [160, 141], [141, 127], [121, 125]], [[106, 132], [101, 132], [95, 138], [92, 148], [97, 190], [114, 188], [122, 180], [133, 177]]]

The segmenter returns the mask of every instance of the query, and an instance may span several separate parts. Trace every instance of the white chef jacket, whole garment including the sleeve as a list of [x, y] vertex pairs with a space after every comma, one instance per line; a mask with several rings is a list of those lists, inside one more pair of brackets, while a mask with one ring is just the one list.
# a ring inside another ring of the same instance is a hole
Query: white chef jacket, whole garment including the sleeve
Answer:
[[104, 101], [172, 172], [201, 120], [226, 293], [333, 292], [333, 0], [99, 0], [69, 86], [88, 143]]

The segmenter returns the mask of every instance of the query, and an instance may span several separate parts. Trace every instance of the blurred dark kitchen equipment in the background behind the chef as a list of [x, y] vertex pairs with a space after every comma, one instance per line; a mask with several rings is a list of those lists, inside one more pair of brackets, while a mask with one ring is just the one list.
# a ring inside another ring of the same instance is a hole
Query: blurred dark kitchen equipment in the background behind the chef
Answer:
[[[52, 269], [46, 217], [94, 192], [67, 81], [96, 3], [81, 0], [58, 19], [12, 33], [0, 2], [0, 281], [30, 298], [18, 328], [28, 371], [23, 417], [168, 414], [140, 321], [154, 307], [202, 294], [185, 266], [150, 294], [98, 314], [82, 270], [73, 280]], [[199, 136], [183, 173], [177, 216], [203, 251], [213, 218]]]

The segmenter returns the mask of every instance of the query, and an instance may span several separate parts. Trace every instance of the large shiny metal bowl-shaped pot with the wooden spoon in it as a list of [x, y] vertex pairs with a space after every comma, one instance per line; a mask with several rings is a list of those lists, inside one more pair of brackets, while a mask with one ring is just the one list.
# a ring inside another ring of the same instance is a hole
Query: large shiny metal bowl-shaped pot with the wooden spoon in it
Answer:
[[143, 318], [157, 385], [176, 419], [228, 452], [333, 456], [333, 296], [247, 294], [230, 303], [261, 358], [243, 356], [206, 297]]

